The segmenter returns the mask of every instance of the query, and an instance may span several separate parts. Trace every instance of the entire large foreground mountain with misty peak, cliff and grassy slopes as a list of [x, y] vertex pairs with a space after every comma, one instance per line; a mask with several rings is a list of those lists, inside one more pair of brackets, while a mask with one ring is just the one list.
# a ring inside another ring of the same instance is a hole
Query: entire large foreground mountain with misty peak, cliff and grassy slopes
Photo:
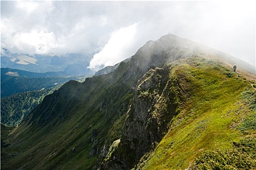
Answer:
[[[255, 169], [256, 78], [221, 57], [167, 34], [109, 74], [69, 81], [1, 136], [1, 168], [207, 169], [220, 158]], [[249, 156], [224, 159], [234, 152]]]

